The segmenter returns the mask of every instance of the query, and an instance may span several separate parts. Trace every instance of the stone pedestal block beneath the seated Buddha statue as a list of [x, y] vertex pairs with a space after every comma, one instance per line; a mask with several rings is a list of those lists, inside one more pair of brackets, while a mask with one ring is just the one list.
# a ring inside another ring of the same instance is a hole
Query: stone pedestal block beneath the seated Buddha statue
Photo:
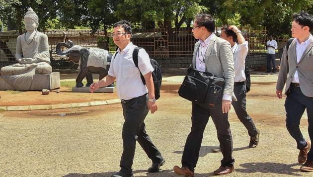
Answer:
[[[60, 73], [51, 73], [45, 75], [34, 75], [29, 90], [58, 89], [58, 88], [60, 88]], [[3, 80], [3, 78], [0, 77], [0, 90], [16, 90], [16, 89], [7, 84]]]

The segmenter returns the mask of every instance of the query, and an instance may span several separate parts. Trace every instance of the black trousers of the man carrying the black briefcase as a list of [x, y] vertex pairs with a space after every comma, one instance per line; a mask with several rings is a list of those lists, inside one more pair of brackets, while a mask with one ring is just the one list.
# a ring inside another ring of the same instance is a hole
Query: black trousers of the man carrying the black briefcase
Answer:
[[198, 104], [192, 103], [191, 112], [191, 131], [187, 137], [183, 156], [181, 159], [182, 167], [188, 167], [194, 171], [199, 158], [199, 151], [202, 143], [203, 132], [208, 123], [209, 117], [215, 124], [218, 140], [220, 142], [223, 160], [222, 166], [234, 166], [235, 160], [233, 154], [233, 137], [228, 113], [223, 114], [222, 106], [216, 109], [205, 109]]

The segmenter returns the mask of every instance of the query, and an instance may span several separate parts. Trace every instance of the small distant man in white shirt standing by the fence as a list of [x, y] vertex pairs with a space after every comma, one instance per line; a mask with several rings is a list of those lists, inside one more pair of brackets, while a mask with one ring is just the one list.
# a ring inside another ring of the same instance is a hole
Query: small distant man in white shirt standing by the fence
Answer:
[[268, 40], [266, 42], [266, 64], [267, 64], [267, 68], [266, 68], [266, 73], [271, 72], [271, 62], [273, 64], [273, 73], [276, 73], [276, 49], [277, 49], [277, 42], [273, 39], [273, 36], [270, 35], [270, 40]]

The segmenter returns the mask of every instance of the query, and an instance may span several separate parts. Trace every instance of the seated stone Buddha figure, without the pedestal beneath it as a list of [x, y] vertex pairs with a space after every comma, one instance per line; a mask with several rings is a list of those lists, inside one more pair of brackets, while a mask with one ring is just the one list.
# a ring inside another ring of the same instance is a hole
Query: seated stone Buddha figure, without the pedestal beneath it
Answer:
[[[24, 16], [26, 33], [19, 35], [16, 41], [15, 58], [17, 64], [1, 68], [1, 76], [33, 74], [50, 74], [50, 54], [48, 36], [37, 31], [38, 16], [29, 8]], [[33, 70], [35, 70], [33, 72]]]

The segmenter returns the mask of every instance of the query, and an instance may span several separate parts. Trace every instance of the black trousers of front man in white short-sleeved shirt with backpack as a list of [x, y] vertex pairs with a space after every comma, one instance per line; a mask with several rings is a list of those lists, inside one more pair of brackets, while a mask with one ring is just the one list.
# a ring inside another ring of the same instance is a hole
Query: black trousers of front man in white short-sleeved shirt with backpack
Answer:
[[123, 124], [123, 154], [121, 157], [121, 171], [126, 174], [132, 174], [132, 165], [135, 156], [136, 141], [144, 149], [148, 157], [153, 162], [161, 162], [163, 160], [161, 153], [152, 143], [146, 132], [144, 120], [149, 112], [148, 95], [142, 95], [130, 100], [122, 102], [123, 116], [125, 122]]

